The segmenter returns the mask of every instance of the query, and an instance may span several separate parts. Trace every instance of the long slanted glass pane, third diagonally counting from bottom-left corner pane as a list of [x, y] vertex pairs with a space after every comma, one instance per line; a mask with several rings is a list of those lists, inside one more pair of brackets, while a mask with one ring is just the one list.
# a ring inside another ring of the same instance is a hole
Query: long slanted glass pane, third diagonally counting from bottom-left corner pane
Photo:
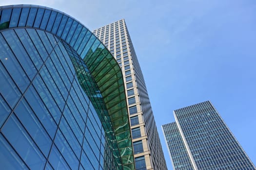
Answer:
[[24, 98], [15, 108], [14, 112], [30, 136], [39, 146], [40, 150], [44, 153], [45, 156], [47, 156], [51, 148], [52, 140]]

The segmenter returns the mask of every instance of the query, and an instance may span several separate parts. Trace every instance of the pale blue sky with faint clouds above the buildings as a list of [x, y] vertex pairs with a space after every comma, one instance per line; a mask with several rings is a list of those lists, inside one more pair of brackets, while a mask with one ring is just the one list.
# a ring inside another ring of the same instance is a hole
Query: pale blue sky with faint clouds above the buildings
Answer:
[[39, 4], [91, 31], [125, 18], [161, 125], [173, 110], [210, 100], [256, 164], [255, 0], [0, 0]]

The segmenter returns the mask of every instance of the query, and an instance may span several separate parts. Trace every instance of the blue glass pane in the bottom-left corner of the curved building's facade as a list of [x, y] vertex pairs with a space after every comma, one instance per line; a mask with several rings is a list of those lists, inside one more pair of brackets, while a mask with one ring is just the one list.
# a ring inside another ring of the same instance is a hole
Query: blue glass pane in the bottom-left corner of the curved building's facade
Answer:
[[28, 169], [2, 135], [0, 135], [0, 151], [0, 167], [2, 170]]

